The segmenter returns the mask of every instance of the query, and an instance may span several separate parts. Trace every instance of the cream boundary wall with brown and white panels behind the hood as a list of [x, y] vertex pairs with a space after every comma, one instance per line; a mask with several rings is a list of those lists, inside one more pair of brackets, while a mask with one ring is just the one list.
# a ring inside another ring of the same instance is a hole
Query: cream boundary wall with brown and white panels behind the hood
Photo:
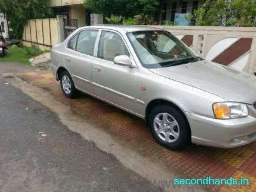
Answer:
[[155, 27], [170, 31], [206, 60], [250, 74], [256, 72], [256, 27]]

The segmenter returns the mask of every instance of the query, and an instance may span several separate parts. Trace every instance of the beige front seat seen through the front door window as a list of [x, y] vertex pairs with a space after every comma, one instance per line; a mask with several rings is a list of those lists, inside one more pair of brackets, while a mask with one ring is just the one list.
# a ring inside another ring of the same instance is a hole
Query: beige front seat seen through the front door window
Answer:
[[116, 39], [105, 40], [103, 46], [103, 58], [113, 61], [118, 55], [126, 55], [123, 42]]

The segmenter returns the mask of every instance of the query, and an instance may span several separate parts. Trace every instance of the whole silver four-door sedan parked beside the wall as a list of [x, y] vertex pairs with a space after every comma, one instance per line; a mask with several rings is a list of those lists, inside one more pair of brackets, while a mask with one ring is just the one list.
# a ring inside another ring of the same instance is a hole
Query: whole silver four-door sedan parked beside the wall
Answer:
[[81, 91], [143, 118], [171, 150], [256, 140], [256, 78], [198, 57], [165, 30], [82, 27], [51, 58], [67, 97]]

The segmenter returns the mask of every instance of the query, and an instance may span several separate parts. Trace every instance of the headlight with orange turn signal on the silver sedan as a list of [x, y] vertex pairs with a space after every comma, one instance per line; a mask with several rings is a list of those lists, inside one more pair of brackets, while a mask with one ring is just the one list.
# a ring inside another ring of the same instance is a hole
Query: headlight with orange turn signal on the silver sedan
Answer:
[[213, 104], [214, 115], [217, 119], [232, 119], [248, 116], [246, 104], [235, 102], [220, 102]]

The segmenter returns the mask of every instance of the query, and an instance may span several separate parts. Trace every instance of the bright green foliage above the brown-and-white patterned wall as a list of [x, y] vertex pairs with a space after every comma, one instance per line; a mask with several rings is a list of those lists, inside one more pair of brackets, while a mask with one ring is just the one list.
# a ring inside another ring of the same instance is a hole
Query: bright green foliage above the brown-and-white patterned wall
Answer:
[[206, 0], [191, 19], [202, 26], [256, 26], [256, 1]]

